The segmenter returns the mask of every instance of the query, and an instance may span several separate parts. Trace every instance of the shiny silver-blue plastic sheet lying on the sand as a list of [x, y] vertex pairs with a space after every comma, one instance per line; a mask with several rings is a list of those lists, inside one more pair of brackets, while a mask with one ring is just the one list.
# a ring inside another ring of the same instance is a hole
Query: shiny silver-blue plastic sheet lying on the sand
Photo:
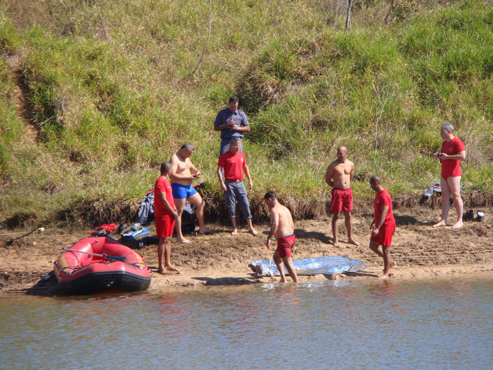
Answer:
[[[366, 268], [363, 262], [344, 257], [314, 257], [293, 260], [298, 275], [330, 274], [358, 272]], [[279, 270], [272, 260], [254, 260], [252, 269], [259, 276], [279, 276]], [[284, 270], [287, 274], [286, 267]]]

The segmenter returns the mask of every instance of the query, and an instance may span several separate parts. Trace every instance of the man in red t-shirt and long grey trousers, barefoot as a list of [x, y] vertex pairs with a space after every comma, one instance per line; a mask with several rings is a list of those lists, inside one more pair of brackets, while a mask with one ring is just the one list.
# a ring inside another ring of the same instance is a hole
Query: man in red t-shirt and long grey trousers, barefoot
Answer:
[[[224, 191], [224, 198], [226, 199], [226, 206], [228, 207], [228, 216], [233, 224], [233, 231], [231, 235], [238, 235], [238, 229], [236, 227], [236, 200], [241, 208], [241, 213], [244, 218], [247, 219], [248, 231], [253, 236], [257, 235], [257, 232], [252, 226], [252, 213], [250, 213], [250, 202], [248, 200], [247, 189], [243, 184], [243, 172], [248, 179], [248, 188], [252, 190], [253, 182], [250, 177], [250, 171], [247, 166], [247, 160], [243, 152], [239, 152], [241, 147], [241, 139], [239, 137], [231, 138], [229, 142], [229, 151], [224, 153], [217, 163], [217, 177], [221, 184], [221, 190]], [[224, 177], [222, 178], [222, 172], [224, 169]]]

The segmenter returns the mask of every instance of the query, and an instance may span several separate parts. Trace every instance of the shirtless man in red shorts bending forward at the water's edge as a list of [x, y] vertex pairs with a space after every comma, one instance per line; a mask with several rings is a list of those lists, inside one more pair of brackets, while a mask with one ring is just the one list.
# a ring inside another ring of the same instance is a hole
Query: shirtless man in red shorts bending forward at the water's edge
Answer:
[[268, 249], [271, 249], [271, 238], [275, 236], [277, 239], [277, 249], [272, 259], [281, 274], [281, 280], [279, 282], [286, 282], [284, 265], [286, 265], [289, 276], [291, 276], [293, 281], [298, 282], [298, 275], [296, 274], [293, 259], [291, 258], [291, 249], [295, 243], [291, 212], [284, 205], [279, 204], [277, 195], [273, 191], [266, 193], [264, 201], [271, 211], [271, 231], [267, 237], [266, 246]]

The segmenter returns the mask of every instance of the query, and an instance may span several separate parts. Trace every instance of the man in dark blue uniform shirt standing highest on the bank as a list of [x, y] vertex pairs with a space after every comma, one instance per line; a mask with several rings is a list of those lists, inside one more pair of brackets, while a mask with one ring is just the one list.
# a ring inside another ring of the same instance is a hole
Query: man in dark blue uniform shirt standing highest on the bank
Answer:
[[[238, 98], [232, 96], [229, 98], [229, 105], [217, 113], [214, 121], [214, 131], [221, 131], [221, 150], [219, 157], [229, 151], [229, 140], [232, 137], [243, 137], [243, 132], [250, 131], [247, 115], [238, 109]], [[239, 149], [243, 152], [243, 144]]]

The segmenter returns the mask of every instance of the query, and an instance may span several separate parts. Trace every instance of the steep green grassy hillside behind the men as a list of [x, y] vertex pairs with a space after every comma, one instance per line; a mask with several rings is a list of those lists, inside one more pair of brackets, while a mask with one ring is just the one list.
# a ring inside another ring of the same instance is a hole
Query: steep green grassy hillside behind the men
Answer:
[[341, 144], [359, 201], [372, 174], [419, 199], [444, 121], [466, 145], [465, 193], [491, 199], [492, 5], [387, 3], [356, 4], [346, 30], [342, 0], [7, 0], [0, 223], [126, 221], [185, 141], [221, 214], [212, 123], [231, 95], [251, 123], [256, 217], [272, 188], [298, 217], [323, 213]]

